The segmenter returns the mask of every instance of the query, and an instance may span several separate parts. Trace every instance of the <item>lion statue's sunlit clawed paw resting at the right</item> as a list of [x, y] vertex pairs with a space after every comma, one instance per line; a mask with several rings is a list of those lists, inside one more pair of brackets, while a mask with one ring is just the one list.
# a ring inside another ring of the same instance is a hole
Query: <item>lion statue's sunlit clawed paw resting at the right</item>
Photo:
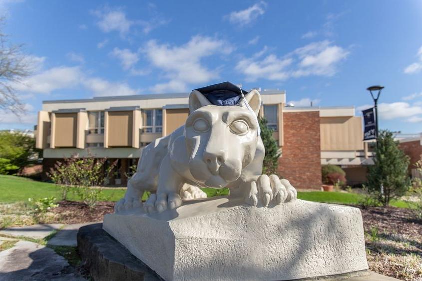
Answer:
[[297, 198], [296, 189], [277, 175], [261, 175], [256, 181], [247, 183], [246, 188], [245, 203], [253, 206], [268, 206], [270, 202], [279, 205]]

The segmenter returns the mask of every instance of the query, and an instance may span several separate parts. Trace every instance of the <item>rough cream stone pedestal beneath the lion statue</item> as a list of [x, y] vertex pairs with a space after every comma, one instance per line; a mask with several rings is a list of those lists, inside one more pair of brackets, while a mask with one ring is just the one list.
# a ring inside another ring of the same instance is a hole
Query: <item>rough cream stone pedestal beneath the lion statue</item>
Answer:
[[368, 269], [357, 208], [227, 198], [104, 217], [103, 229], [165, 280], [291, 280]]

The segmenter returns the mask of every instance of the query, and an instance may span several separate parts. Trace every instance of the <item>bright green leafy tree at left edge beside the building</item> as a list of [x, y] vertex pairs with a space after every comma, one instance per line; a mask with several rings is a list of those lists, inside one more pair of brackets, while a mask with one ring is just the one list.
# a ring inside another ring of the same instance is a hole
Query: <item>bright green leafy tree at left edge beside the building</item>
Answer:
[[0, 131], [0, 174], [17, 172], [36, 158], [35, 139], [23, 132]]

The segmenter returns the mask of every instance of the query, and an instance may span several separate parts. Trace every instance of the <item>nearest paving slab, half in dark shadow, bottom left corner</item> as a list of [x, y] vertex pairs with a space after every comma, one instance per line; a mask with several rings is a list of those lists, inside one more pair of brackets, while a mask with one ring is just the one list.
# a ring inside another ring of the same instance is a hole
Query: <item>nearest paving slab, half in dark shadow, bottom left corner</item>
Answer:
[[0, 252], [0, 281], [84, 280], [74, 274], [67, 261], [52, 249], [29, 241], [18, 241]]

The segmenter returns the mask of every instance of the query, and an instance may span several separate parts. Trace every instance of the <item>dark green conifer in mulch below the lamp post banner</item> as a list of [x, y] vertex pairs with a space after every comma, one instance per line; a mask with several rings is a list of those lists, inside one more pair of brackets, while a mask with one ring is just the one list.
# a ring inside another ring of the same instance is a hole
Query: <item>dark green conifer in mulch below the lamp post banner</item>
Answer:
[[409, 156], [398, 146], [393, 133], [380, 131], [375, 150], [375, 165], [369, 167], [368, 192], [384, 206], [403, 196], [410, 187]]

